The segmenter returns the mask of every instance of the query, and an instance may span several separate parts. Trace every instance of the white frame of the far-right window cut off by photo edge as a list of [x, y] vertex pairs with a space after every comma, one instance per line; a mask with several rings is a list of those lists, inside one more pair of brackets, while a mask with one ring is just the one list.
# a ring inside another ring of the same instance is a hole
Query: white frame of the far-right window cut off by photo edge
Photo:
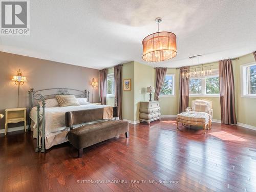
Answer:
[[249, 94], [249, 91], [250, 91], [249, 67], [251, 66], [256, 66], [256, 62], [254, 61], [254, 62], [246, 63], [240, 66], [242, 98], [256, 98], [256, 94]]

